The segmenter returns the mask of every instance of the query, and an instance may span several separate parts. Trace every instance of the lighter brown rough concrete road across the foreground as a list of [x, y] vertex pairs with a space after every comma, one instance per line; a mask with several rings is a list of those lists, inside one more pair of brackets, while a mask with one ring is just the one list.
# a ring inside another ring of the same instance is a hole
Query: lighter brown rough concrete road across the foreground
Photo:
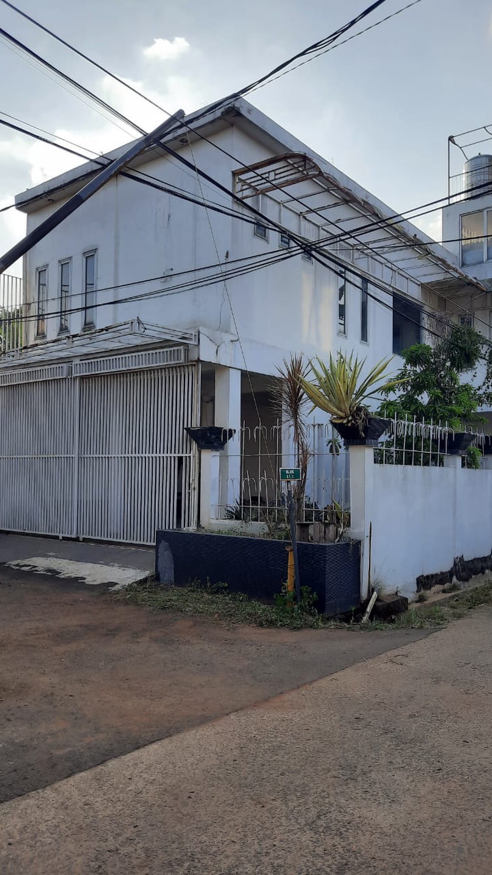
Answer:
[[489, 875], [491, 631], [477, 608], [5, 802], [0, 872]]

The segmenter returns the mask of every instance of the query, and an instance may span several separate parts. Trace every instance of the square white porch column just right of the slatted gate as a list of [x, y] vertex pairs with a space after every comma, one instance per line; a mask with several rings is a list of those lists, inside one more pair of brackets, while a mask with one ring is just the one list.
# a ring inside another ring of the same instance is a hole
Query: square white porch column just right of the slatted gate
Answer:
[[225, 449], [219, 453], [218, 519], [224, 507], [241, 497], [241, 371], [236, 367], [215, 369], [215, 425], [234, 429]]

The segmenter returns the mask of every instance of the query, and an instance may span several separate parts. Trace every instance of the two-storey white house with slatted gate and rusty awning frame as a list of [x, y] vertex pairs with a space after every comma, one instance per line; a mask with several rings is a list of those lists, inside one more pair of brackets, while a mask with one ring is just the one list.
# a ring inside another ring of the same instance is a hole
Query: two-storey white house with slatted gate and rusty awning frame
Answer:
[[[0, 528], [152, 542], [156, 528], [208, 523], [242, 500], [242, 425], [260, 415], [264, 454], [286, 455], [269, 394], [284, 356], [354, 350], [370, 367], [421, 339], [423, 314], [482, 294], [458, 253], [251, 104], [193, 119], [166, 144], [244, 205], [156, 147], [132, 172], [167, 193], [119, 175], [24, 257], [27, 348], [0, 366]], [[28, 232], [98, 169], [17, 195]], [[184, 427], [200, 423], [235, 434], [204, 455], [199, 487]]]

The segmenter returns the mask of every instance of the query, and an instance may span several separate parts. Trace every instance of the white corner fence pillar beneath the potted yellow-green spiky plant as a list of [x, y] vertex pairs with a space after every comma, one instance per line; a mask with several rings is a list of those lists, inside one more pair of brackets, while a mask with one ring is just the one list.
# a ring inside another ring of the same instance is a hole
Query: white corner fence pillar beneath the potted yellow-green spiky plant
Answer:
[[360, 595], [368, 596], [371, 562], [371, 501], [374, 493], [374, 448], [350, 446], [350, 536], [360, 541]]

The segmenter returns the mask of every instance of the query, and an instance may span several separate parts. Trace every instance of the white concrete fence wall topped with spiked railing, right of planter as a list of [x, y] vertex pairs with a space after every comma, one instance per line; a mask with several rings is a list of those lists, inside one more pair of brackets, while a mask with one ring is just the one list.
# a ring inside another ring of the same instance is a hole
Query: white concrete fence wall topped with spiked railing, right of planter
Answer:
[[[420, 575], [492, 551], [492, 470], [378, 465], [372, 447], [350, 447], [350, 531], [362, 542], [361, 589], [380, 582], [412, 598]], [[371, 533], [371, 537], [370, 537]]]

